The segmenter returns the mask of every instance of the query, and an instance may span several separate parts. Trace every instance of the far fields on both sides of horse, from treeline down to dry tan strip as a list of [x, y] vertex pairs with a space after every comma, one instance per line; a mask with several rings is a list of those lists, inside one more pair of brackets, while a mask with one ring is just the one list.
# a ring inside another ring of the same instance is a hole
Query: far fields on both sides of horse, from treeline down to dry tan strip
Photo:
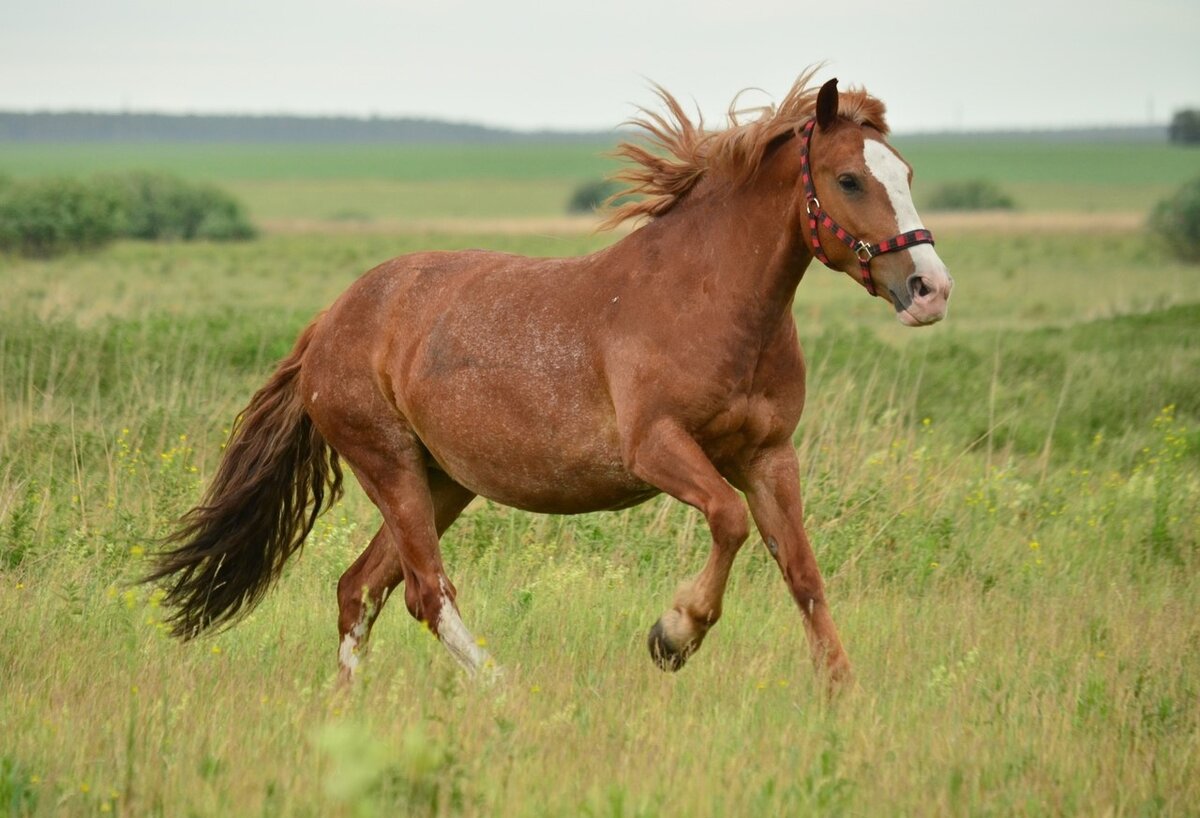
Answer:
[[[0, 145], [13, 178], [162, 170], [238, 193], [257, 219], [546, 217], [618, 166], [595, 145]], [[1170, 145], [898, 138], [917, 204], [938, 184], [985, 178], [1031, 211], [1148, 211], [1200, 175]]]

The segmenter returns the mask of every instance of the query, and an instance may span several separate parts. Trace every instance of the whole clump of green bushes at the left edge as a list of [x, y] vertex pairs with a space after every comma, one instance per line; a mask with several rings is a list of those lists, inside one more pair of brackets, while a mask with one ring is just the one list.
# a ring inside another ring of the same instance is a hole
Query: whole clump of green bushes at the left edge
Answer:
[[47, 257], [115, 237], [251, 239], [241, 205], [215, 187], [149, 173], [90, 181], [0, 179], [0, 251]]

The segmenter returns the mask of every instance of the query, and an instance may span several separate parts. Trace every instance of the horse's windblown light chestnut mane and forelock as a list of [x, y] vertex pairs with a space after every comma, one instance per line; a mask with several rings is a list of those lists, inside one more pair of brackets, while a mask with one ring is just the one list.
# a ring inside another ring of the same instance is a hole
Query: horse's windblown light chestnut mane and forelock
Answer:
[[[760, 115], [749, 121], [739, 121], [742, 114], [734, 97], [728, 110], [730, 126], [722, 131], [704, 130], [702, 118], [692, 122], [683, 106], [666, 89], [655, 85], [666, 113], [641, 108], [641, 116], [626, 125], [641, 128], [644, 138], [623, 142], [614, 151], [632, 166], [616, 174], [614, 179], [626, 182], [626, 187], [610, 202], [636, 198], [610, 207], [601, 229], [666, 213], [706, 175], [722, 176], [733, 185], [754, 176], [767, 150], [778, 139], [798, 133], [812, 118], [817, 89], [809, 84], [816, 72], [817, 68], [805, 71], [778, 106], [754, 109]], [[883, 103], [862, 88], [850, 88], [839, 95], [838, 114], [858, 125], [870, 125], [884, 136], [888, 133]]]

